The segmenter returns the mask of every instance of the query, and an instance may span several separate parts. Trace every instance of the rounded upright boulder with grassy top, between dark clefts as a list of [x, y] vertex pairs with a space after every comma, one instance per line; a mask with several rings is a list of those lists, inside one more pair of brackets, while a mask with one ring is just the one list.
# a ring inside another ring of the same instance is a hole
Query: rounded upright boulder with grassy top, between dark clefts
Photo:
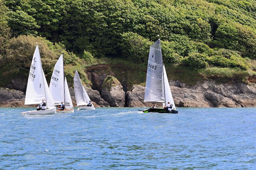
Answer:
[[125, 106], [125, 92], [121, 83], [112, 76], [107, 76], [103, 81], [101, 96], [111, 107]]

